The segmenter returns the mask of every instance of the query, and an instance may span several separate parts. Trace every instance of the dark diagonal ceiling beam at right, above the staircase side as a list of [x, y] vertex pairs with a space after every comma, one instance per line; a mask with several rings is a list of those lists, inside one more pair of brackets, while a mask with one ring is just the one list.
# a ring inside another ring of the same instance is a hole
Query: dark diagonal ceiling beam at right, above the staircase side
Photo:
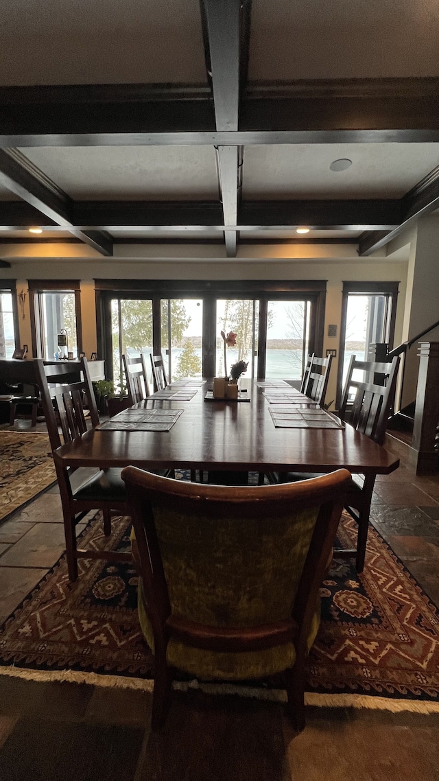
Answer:
[[419, 217], [427, 216], [435, 209], [439, 209], [439, 166], [434, 168], [427, 176], [412, 187], [400, 201], [401, 222], [389, 231], [373, 231], [359, 237], [359, 255], [365, 257], [385, 247], [389, 241], [402, 234]]

